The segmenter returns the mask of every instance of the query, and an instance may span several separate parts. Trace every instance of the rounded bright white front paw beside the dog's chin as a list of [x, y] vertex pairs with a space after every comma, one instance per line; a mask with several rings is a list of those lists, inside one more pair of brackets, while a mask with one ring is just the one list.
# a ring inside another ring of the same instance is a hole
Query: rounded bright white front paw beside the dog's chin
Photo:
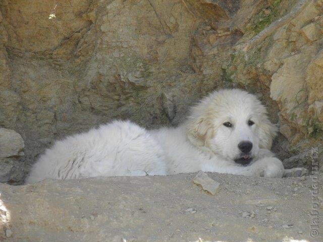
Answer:
[[253, 173], [255, 175], [280, 178], [284, 175], [283, 163], [275, 157], [265, 157], [257, 160], [253, 165]]

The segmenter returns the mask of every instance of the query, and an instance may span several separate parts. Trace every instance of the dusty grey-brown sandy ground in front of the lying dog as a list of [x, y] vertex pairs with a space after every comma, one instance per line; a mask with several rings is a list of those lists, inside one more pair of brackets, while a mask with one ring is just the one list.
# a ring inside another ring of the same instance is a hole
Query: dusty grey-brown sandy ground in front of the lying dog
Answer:
[[[0, 184], [0, 240], [323, 241], [321, 222], [318, 235], [310, 236], [316, 216], [309, 216], [314, 211], [309, 176], [208, 173], [221, 184], [210, 195], [193, 184], [195, 175]], [[323, 174], [317, 184], [317, 219], [322, 221]]]

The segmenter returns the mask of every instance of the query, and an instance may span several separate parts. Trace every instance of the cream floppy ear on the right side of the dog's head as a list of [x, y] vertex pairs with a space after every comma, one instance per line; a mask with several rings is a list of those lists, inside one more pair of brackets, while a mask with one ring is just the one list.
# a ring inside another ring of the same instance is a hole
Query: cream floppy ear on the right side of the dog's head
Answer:
[[266, 117], [262, 122], [259, 122], [259, 148], [268, 149], [272, 148], [273, 139], [277, 135], [277, 127], [273, 125]]

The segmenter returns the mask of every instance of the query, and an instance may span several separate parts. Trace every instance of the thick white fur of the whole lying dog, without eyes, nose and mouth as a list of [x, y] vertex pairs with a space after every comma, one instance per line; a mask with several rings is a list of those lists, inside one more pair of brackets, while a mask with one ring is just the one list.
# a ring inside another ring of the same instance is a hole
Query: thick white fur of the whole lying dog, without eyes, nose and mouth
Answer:
[[[249, 126], [248, 120], [254, 125]], [[225, 122], [232, 127], [225, 127]], [[284, 167], [270, 151], [276, 127], [252, 94], [215, 91], [192, 108], [178, 128], [147, 131], [129, 121], [114, 121], [57, 141], [33, 165], [26, 183], [45, 178], [167, 175], [198, 170], [282, 177]], [[253, 161], [242, 166], [238, 144], [253, 144]]]

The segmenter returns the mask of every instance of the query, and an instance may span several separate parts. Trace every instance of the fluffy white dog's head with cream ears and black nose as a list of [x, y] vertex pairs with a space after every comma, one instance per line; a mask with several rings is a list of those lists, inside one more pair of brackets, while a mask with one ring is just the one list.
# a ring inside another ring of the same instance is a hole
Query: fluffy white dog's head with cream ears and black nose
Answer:
[[203, 98], [192, 108], [186, 129], [194, 146], [242, 165], [249, 164], [259, 148], [271, 149], [277, 132], [260, 101], [239, 89]]

